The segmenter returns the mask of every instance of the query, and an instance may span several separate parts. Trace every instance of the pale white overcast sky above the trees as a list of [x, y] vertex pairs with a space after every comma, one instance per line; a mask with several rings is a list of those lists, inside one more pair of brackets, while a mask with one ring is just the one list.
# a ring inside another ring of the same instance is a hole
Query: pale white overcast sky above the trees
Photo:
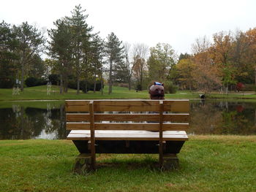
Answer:
[[123, 42], [170, 44], [177, 53], [190, 53], [198, 37], [211, 39], [219, 31], [247, 31], [256, 27], [255, 0], [1, 0], [0, 20], [39, 28], [71, 15], [81, 4], [87, 23], [105, 38], [114, 32]]

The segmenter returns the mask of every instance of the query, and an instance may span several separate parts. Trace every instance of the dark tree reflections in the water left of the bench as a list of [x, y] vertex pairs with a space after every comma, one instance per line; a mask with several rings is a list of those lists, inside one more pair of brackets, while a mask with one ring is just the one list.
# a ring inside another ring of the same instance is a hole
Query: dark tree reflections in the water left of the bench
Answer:
[[67, 137], [65, 127], [64, 105], [59, 109], [50, 107], [38, 109], [19, 105], [0, 109], [0, 139], [30, 139], [38, 137], [42, 130], [54, 134], [56, 139]]

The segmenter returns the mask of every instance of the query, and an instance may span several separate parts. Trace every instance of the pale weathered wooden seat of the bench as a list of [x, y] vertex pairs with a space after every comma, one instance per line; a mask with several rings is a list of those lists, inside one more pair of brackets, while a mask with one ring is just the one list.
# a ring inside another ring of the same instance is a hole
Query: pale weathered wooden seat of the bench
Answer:
[[[68, 140], [90, 140], [89, 130], [72, 130], [67, 136]], [[116, 131], [99, 130], [95, 131], [95, 140], [145, 140], [158, 141], [159, 132], [154, 131]], [[163, 131], [164, 141], [187, 141], [186, 131]]]

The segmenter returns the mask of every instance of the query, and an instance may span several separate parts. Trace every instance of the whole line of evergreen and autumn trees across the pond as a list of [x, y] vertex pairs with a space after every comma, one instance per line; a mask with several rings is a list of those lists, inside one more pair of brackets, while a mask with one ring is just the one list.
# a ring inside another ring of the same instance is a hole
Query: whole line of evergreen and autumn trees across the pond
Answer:
[[[55, 83], [60, 92], [68, 88], [100, 91], [108, 83], [142, 90], [151, 82], [164, 82], [166, 91], [177, 88], [201, 90], [255, 89], [256, 28], [221, 31], [195, 39], [192, 54], [176, 55], [167, 43], [155, 47], [121, 42], [113, 32], [105, 39], [87, 23], [89, 15], [80, 5], [70, 16], [56, 20], [46, 34], [24, 22], [0, 23], [0, 88]], [[42, 55], [48, 58], [42, 59]], [[25, 83], [26, 82], [26, 83]], [[56, 83], [57, 83], [56, 82]]]

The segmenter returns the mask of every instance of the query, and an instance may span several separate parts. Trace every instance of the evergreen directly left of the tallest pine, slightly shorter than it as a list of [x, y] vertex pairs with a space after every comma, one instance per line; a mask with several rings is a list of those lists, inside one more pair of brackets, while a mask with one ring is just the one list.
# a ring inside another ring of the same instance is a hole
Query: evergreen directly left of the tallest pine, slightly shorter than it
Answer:
[[48, 54], [57, 61], [53, 64], [56, 64], [55, 69], [60, 74], [60, 93], [67, 93], [68, 75], [72, 69], [72, 33], [66, 19], [56, 20], [54, 25], [56, 28], [48, 31]]

